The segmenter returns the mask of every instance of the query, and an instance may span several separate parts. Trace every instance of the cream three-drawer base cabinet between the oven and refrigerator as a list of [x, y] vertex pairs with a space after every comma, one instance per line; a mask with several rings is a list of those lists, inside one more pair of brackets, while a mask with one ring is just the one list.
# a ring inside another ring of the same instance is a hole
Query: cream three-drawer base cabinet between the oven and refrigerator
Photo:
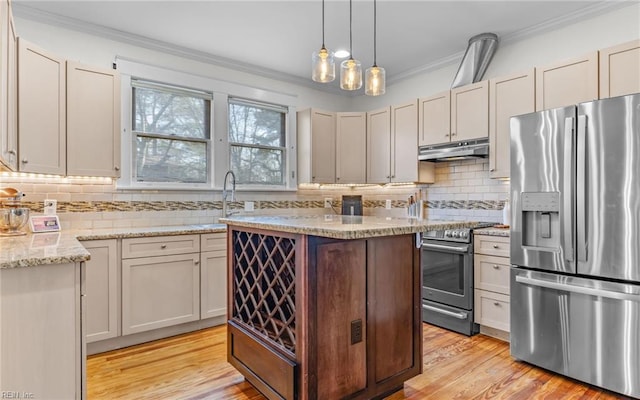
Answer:
[[510, 331], [509, 238], [474, 235], [474, 316], [480, 331], [508, 340]]

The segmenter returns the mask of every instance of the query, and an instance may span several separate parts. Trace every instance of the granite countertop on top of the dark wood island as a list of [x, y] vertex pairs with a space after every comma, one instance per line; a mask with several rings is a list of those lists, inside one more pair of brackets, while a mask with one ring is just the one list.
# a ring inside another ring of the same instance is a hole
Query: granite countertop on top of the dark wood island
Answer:
[[221, 218], [229, 225], [278, 232], [323, 236], [334, 239], [363, 239], [404, 235], [428, 230], [472, 228], [477, 222], [419, 220], [416, 218], [304, 215], [304, 216], [234, 216]]

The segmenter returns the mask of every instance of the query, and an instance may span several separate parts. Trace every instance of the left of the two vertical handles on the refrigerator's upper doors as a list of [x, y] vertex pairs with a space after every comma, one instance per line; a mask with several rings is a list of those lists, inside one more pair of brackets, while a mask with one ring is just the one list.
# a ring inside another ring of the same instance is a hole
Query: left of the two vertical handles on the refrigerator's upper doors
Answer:
[[574, 240], [573, 240], [573, 205], [575, 204], [575, 187], [573, 185], [573, 177], [575, 176], [574, 169], [574, 148], [575, 148], [575, 135], [573, 129], [574, 119], [569, 117], [564, 120], [564, 194], [563, 194], [563, 209], [562, 221], [564, 224], [563, 232], [563, 244], [564, 257], [567, 261], [574, 261]]

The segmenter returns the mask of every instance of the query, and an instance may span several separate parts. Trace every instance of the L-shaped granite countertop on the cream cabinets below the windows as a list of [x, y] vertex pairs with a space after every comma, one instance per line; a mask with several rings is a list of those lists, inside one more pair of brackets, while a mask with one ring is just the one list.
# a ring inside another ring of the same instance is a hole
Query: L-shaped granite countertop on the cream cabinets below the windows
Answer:
[[150, 236], [225, 232], [224, 224], [113, 228], [29, 233], [0, 237], [0, 269], [64, 264], [89, 260], [80, 240], [123, 239]]

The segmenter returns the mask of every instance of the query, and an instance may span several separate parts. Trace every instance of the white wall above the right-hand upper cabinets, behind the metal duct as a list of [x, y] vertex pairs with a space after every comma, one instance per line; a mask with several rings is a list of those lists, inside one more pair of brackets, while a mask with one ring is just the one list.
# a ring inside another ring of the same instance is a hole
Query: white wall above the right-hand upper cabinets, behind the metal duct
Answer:
[[[483, 79], [518, 73], [640, 38], [640, 3], [519, 41], [500, 43]], [[460, 60], [387, 86], [384, 96], [355, 97], [349, 111], [367, 111], [448, 90]]]

